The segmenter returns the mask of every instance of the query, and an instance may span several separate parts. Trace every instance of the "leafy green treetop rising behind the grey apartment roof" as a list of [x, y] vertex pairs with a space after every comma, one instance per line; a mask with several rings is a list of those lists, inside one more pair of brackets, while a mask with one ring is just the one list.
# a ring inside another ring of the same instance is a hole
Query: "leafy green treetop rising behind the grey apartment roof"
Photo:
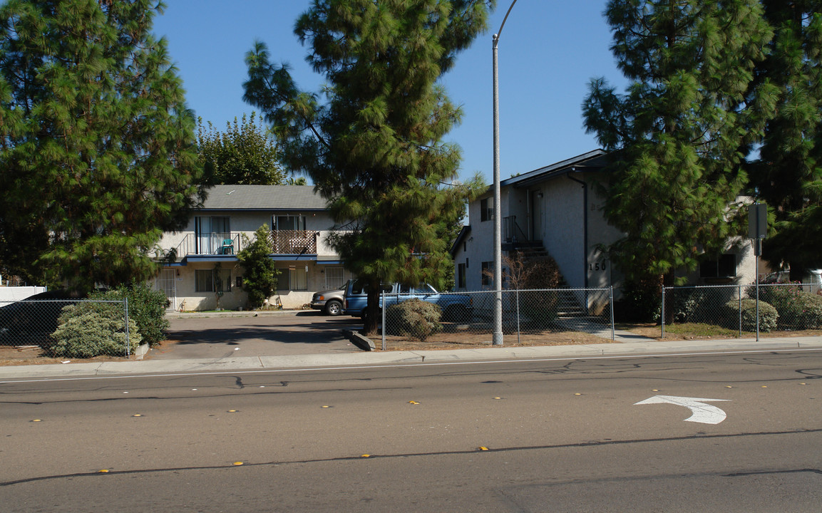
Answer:
[[251, 118], [242, 114], [241, 122], [234, 118], [233, 125], [225, 125], [225, 132], [219, 132], [211, 122], [206, 129], [198, 119], [197, 146], [205, 183], [289, 183], [289, 177], [277, 163], [277, 146], [265, 129], [256, 124], [256, 113], [252, 112]]

